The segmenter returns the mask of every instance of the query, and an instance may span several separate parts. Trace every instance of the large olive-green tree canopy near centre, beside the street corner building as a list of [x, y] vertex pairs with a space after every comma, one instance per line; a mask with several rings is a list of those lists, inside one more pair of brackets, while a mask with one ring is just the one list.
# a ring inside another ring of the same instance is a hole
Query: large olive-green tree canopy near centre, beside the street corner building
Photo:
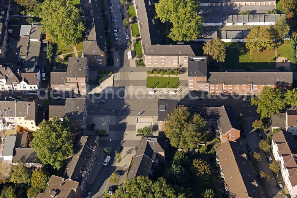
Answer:
[[168, 115], [168, 121], [163, 129], [172, 146], [184, 150], [193, 149], [205, 140], [206, 121], [199, 114], [192, 116], [187, 109], [179, 106]]

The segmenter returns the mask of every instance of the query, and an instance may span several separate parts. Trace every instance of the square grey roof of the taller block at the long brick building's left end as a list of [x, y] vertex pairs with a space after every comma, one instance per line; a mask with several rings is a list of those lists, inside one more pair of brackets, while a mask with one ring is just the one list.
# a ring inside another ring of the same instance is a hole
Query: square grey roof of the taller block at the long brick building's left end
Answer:
[[189, 57], [188, 77], [207, 76], [207, 56]]

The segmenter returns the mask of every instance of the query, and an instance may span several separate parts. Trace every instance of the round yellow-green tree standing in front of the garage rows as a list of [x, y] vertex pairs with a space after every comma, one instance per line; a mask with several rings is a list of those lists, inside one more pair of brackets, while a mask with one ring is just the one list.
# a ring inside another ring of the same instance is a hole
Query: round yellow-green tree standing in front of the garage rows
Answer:
[[251, 29], [247, 35], [245, 46], [252, 52], [259, 52], [261, 49], [272, 49], [272, 34], [265, 26], [257, 26]]

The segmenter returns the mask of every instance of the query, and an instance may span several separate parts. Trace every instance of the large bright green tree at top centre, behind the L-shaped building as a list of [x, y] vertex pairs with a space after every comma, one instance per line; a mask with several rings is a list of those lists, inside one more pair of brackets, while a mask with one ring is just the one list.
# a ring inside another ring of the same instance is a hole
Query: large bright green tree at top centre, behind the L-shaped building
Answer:
[[200, 2], [194, 0], [160, 0], [155, 4], [162, 23], [170, 21], [173, 27], [168, 35], [174, 41], [195, 40], [202, 31], [202, 18], [197, 13]]

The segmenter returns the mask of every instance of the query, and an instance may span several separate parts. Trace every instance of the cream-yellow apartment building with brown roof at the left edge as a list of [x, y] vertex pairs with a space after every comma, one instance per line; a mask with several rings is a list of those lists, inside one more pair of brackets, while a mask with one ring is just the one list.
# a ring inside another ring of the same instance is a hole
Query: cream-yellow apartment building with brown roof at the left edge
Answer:
[[34, 132], [43, 119], [34, 100], [0, 101], [0, 115], [0, 130], [12, 124], [19, 125], [21, 131]]

